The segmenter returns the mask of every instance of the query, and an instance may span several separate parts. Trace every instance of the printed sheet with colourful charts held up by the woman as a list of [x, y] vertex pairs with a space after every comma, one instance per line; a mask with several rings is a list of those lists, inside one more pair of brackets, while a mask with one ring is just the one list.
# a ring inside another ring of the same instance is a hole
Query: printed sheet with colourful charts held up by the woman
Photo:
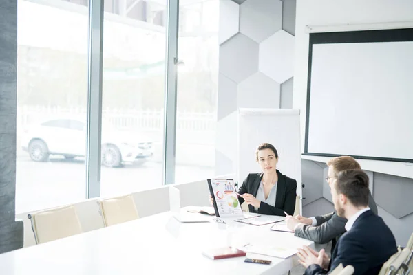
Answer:
[[243, 217], [233, 179], [208, 179], [216, 217]]

